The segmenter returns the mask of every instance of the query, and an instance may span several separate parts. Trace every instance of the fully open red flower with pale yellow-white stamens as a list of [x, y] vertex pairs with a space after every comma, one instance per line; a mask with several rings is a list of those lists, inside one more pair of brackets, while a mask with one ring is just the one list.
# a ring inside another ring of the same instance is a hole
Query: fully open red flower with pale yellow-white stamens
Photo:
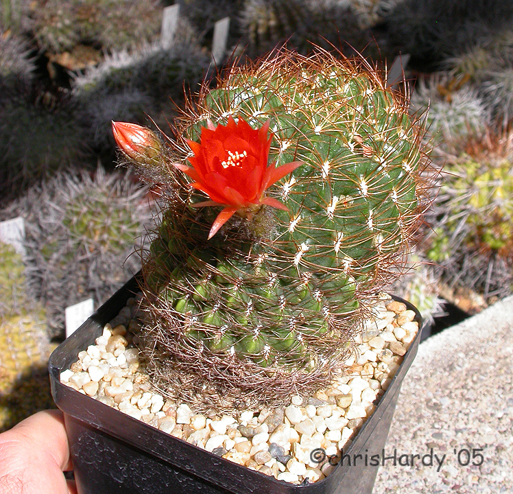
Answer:
[[287, 210], [281, 202], [265, 196], [265, 189], [292, 172], [301, 161], [276, 168], [267, 166], [273, 134], [267, 139], [270, 121], [255, 130], [248, 122], [232, 117], [228, 124], [215, 127], [208, 122], [202, 128], [201, 143], [187, 141], [194, 156], [188, 158], [193, 167], [175, 165], [194, 181], [195, 189], [203, 191], [209, 201], [193, 204], [195, 207], [224, 206], [213, 222], [208, 238], [217, 233], [235, 213], [251, 218], [261, 204]]

